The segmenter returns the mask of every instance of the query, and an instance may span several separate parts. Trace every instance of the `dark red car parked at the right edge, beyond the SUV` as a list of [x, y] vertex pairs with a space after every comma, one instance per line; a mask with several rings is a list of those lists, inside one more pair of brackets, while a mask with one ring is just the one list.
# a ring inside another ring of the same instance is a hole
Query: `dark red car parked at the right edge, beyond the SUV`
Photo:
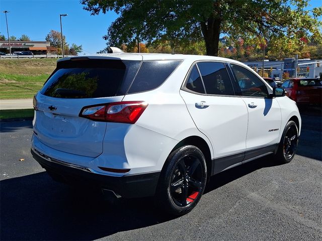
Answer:
[[293, 78], [282, 84], [286, 95], [298, 104], [321, 104], [322, 82], [313, 78]]

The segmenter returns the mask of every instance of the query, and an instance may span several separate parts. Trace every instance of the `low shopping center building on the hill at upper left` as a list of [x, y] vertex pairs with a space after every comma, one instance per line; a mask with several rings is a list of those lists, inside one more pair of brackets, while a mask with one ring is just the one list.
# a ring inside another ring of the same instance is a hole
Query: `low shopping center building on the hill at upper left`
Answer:
[[[57, 49], [50, 46], [47, 41], [10, 41], [11, 53], [31, 51], [34, 55], [57, 54]], [[9, 42], [0, 41], [0, 52], [9, 54]]]

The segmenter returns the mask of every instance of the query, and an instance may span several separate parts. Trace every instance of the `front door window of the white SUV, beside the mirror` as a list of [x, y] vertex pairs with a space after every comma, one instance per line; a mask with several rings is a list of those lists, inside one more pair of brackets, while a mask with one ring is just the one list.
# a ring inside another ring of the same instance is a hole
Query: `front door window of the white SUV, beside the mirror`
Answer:
[[231, 64], [231, 68], [240, 87], [241, 95], [254, 97], [268, 96], [266, 85], [254, 73], [239, 65]]

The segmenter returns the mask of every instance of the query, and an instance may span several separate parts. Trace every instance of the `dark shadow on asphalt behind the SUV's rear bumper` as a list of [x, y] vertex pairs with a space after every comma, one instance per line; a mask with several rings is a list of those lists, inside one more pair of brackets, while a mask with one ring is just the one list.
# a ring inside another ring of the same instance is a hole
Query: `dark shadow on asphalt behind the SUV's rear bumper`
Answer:
[[45, 172], [0, 181], [1, 240], [93, 240], [165, 222], [152, 198], [104, 201]]

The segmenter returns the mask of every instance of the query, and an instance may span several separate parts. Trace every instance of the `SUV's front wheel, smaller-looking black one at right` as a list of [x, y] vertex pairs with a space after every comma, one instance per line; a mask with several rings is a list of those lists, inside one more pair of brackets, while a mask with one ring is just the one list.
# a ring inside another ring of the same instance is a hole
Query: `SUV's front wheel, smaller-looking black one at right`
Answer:
[[293, 121], [289, 121], [283, 131], [283, 135], [275, 154], [280, 163], [289, 163], [295, 156], [298, 144], [298, 129]]

